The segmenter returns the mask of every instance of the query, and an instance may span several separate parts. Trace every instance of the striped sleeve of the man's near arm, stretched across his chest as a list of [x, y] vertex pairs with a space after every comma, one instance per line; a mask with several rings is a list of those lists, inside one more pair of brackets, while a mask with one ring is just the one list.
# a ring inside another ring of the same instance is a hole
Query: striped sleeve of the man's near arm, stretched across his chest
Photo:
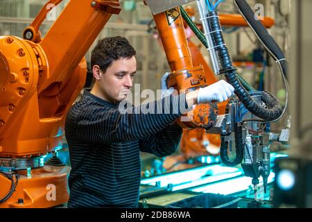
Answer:
[[[75, 118], [78, 137], [95, 143], [125, 142], [155, 135], [192, 108], [185, 94], [128, 108], [85, 105]], [[149, 112], [147, 112], [149, 110]]]

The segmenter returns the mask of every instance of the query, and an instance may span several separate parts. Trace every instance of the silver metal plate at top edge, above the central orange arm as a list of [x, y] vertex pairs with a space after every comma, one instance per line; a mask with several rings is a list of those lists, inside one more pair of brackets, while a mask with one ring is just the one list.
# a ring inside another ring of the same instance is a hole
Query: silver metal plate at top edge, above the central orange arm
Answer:
[[171, 8], [177, 6], [182, 6], [186, 3], [189, 3], [195, 0], [146, 0], [148, 7], [153, 12], [153, 14], [158, 14], [160, 12], [165, 12]]

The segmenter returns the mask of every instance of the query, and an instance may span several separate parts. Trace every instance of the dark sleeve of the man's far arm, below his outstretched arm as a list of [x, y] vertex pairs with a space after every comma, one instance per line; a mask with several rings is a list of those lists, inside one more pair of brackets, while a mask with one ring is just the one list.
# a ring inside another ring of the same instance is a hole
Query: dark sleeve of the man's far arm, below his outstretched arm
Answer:
[[139, 141], [140, 151], [146, 153], [153, 153], [157, 157], [166, 157], [177, 151], [182, 137], [182, 128], [173, 123], [156, 135], [148, 135]]

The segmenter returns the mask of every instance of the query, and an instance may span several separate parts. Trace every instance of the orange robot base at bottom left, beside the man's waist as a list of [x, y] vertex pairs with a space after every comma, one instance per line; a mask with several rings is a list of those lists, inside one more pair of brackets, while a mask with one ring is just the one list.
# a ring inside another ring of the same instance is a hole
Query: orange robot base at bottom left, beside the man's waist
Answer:
[[[70, 167], [46, 165], [31, 172], [19, 171], [19, 180], [10, 198], [0, 208], [48, 208], [67, 203]], [[0, 198], [8, 194], [12, 182], [0, 175]]]

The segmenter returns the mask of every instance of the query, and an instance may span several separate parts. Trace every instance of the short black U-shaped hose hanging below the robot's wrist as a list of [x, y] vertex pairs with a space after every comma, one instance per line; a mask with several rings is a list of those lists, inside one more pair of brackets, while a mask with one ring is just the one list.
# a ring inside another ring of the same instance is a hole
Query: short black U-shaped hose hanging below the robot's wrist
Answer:
[[234, 167], [237, 164], [240, 164], [243, 161], [243, 130], [241, 126], [234, 126], [235, 133], [235, 151], [236, 157], [234, 160], [229, 160], [229, 156], [227, 155], [227, 147], [229, 142], [225, 141], [225, 137], [221, 137], [221, 146], [220, 146], [220, 158], [222, 162], [229, 166]]

